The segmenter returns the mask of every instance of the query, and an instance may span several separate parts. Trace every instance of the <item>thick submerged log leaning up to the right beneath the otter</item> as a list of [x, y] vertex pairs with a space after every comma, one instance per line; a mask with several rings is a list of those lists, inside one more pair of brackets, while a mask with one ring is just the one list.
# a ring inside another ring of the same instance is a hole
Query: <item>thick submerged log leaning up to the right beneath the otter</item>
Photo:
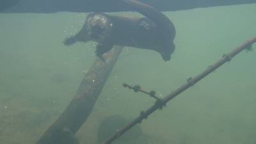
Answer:
[[111, 73], [118, 55], [123, 47], [113, 48], [106, 55], [103, 62], [97, 58], [84, 76], [76, 95], [68, 104], [66, 110], [45, 131], [36, 144], [77, 144], [79, 141], [74, 134], [86, 121], [99, 94]]

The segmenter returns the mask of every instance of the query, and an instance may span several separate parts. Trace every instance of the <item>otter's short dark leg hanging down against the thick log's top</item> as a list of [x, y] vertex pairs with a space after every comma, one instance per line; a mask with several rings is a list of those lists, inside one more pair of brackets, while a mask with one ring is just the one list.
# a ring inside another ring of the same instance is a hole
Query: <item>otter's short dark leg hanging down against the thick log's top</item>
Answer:
[[102, 43], [99, 43], [95, 51], [97, 57], [102, 59], [102, 61], [105, 61], [102, 55], [108, 52], [109, 50], [111, 50], [113, 46], [114, 46], [114, 43], [112, 41], [102, 41]]

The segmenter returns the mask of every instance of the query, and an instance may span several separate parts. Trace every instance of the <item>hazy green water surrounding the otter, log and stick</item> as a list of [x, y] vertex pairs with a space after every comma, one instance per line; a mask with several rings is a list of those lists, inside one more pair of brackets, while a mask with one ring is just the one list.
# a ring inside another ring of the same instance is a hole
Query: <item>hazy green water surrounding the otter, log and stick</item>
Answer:
[[[149, 50], [125, 48], [88, 121], [77, 133], [95, 143], [100, 120], [138, 116], [154, 104], [122, 83], [165, 96], [225, 52], [256, 36], [256, 4], [165, 14], [176, 27], [176, 50], [164, 62]], [[120, 15], [138, 15], [120, 13]], [[0, 143], [35, 143], [63, 112], [95, 59], [95, 43], [65, 47], [86, 13], [0, 14]], [[256, 48], [256, 45], [253, 45]], [[256, 54], [242, 52], [143, 121], [143, 133], [170, 143], [256, 143]]]

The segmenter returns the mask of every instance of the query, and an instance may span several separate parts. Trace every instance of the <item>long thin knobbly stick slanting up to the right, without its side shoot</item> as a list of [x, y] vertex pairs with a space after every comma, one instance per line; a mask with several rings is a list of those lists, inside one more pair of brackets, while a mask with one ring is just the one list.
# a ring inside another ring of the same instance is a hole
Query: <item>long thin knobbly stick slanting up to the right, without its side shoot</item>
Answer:
[[175, 96], [178, 96], [181, 92], [188, 89], [189, 87], [195, 85], [198, 81], [202, 80], [205, 76], [209, 75], [212, 71], [219, 68], [221, 65], [225, 64], [225, 62], [230, 61], [234, 56], [239, 54], [244, 49], [252, 50], [252, 44], [256, 42], [256, 37], [252, 38], [251, 40], [245, 41], [243, 45], [234, 48], [234, 50], [230, 51], [228, 54], [224, 54], [221, 59], [214, 64], [210, 65], [205, 71], [202, 71], [199, 75], [196, 75], [194, 78], [188, 78], [187, 82], [184, 85], [181, 85], [178, 89], [171, 92], [169, 95], [165, 96], [161, 103], [155, 103], [153, 106], [148, 108], [145, 112], [141, 112], [140, 116], [134, 119], [130, 124], [120, 129], [118, 132], [113, 134], [113, 136], [109, 137], [108, 140], [104, 141], [103, 144], [110, 144], [116, 138], [124, 134], [126, 131], [131, 129], [134, 125], [140, 123], [143, 119], [147, 118], [148, 115], [155, 112], [157, 109], [162, 108], [168, 101], [173, 99]]

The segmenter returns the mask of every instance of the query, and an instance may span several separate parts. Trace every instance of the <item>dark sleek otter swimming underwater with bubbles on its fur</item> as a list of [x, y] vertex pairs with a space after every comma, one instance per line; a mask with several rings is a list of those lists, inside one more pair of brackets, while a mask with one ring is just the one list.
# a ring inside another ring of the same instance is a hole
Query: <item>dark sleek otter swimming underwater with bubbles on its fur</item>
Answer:
[[96, 41], [98, 45], [95, 53], [100, 58], [114, 45], [143, 48], [154, 50], [161, 54], [164, 61], [169, 61], [175, 50], [173, 43], [175, 27], [172, 21], [161, 11], [140, 1], [114, 1], [130, 6], [145, 17], [132, 18], [99, 12], [90, 13], [81, 31], [65, 39], [64, 45], [72, 45], [77, 41]]

